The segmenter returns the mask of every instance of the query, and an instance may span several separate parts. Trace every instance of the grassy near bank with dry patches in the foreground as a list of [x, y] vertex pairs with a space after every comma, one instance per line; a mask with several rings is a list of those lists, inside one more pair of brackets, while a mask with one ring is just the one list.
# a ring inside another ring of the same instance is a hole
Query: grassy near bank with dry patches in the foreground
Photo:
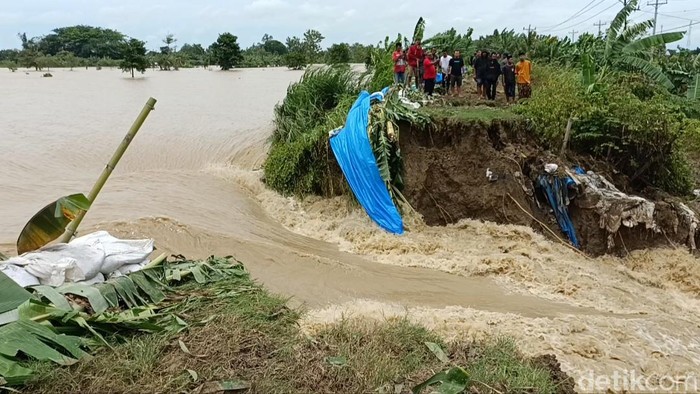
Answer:
[[445, 344], [404, 319], [343, 320], [303, 333], [302, 313], [247, 275], [206, 287], [178, 287], [166, 300], [173, 301], [178, 316], [190, 322], [187, 331], [121, 342], [110, 338], [113, 350], [102, 348], [70, 367], [34, 363], [36, 377], [23, 390], [165, 393], [238, 387], [253, 393], [394, 393], [408, 392], [452, 364], [464, 368], [471, 392], [555, 393], [573, 387], [561, 380], [565, 375], [551, 359], [527, 360], [507, 339]]

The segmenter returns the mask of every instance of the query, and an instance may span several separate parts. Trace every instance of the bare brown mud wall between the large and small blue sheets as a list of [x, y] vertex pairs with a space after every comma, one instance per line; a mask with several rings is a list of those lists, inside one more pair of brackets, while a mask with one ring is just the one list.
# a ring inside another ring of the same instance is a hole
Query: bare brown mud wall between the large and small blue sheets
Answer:
[[517, 121], [402, 127], [404, 195], [429, 225], [464, 218], [533, 225], [509, 197], [532, 211], [532, 199], [523, 190], [523, 185], [531, 189], [531, 182], [521, 163], [534, 152], [521, 130], [524, 125]]

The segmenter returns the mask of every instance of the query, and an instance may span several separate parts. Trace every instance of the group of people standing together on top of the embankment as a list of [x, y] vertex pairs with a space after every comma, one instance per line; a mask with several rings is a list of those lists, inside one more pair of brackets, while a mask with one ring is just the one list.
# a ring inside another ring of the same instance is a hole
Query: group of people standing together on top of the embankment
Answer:
[[518, 62], [514, 63], [509, 54], [477, 51], [467, 66], [460, 51], [450, 56], [445, 50], [439, 56], [437, 48], [426, 52], [421, 41], [416, 40], [408, 50], [404, 50], [401, 43], [396, 44], [393, 60], [394, 82], [406, 86], [415, 84], [416, 89], [423, 89], [428, 96], [433, 95], [437, 83], [442, 85], [446, 94], [460, 96], [469, 67], [482, 99], [496, 99], [499, 81], [507, 102], [515, 101], [516, 86], [519, 98], [528, 98], [532, 93], [532, 63], [524, 53], [520, 53]]

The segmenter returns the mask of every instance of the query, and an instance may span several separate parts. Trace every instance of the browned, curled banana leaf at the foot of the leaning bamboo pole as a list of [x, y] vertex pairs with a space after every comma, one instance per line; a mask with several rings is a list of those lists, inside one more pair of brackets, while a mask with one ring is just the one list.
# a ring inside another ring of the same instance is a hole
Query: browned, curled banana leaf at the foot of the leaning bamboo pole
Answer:
[[89, 208], [90, 201], [84, 194], [61, 197], [45, 206], [22, 229], [17, 239], [17, 253], [31, 252], [60, 237], [68, 223], [80, 211]]

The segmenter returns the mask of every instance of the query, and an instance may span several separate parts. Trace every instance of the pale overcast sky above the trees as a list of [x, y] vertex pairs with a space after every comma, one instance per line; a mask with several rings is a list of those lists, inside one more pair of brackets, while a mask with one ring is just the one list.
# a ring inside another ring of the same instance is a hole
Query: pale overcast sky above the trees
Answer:
[[[531, 24], [538, 32], [576, 36], [597, 32], [593, 24], [612, 19], [620, 0], [0, 0], [0, 48], [19, 47], [18, 32], [41, 36], [62, 26], [86, 24], [119, 30], [145, 40], [156, 49], [172, 33], [178, 45], [211, 44], [219, 33], [238, 36], [242, 47], [263, 34], [284, 41], [308, 28], [334, 42], [374, 44], [386, 35], [410, 34], [419, 16], [427, 21], [426, 36], [455, 27], [471, 26], [475, 37], [494, 28], [522, 31]], [[575, 13], [585, 9], [580, 15]], [[617, 4], [617, 5], [616, 5]], [[642, 12], [633, 20], [651, 18], [654, 8], [640, 1]], [[445, 8], [445, 6], [447, 8]], [[647, 13], [645, 13], [647, 12]], [[700, 1], [668, 0], [660, 7], [659, 30], [687, 30], [690, 19], [700, 21]], [[681, 27], [684, 26], [684, 27]], [[691, 47], [700, 46], [700, 24], [693, 26]], [[687, 38], [680, 43], [686, 46]]]

